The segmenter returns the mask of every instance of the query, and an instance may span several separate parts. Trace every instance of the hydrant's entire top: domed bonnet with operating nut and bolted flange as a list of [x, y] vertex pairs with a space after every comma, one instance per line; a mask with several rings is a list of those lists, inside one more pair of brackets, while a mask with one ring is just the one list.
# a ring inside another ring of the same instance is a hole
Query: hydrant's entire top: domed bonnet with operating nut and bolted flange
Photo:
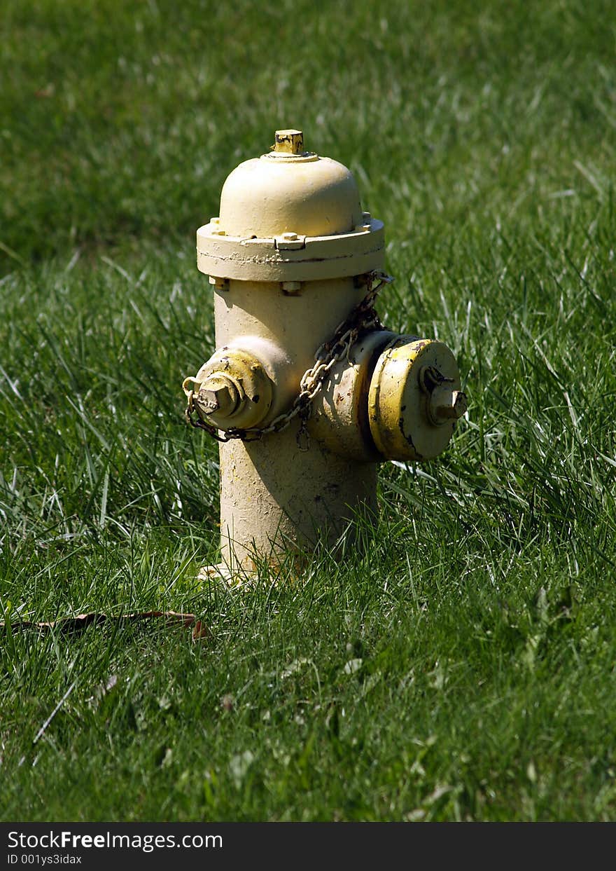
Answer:
[[362, 212], [352, 173], [303, 151], [298, 131], [278, 131], [272, 152], [231, 172], [220, 215], [197, 233], [198, 268], [220, 279], [358, 275], [382, 267], [384, 249], [383, 223]]

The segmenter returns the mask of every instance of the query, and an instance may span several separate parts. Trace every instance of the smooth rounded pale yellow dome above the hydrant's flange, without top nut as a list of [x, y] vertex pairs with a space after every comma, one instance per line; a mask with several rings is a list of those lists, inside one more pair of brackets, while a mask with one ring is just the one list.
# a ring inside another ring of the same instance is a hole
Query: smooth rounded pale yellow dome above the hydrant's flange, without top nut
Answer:
[[220, 197], [220, 228], [230, 236], [331, 236], [352, 233], [362, 223], [352, 172], [316, 155], [246, 160], [226, 179]]

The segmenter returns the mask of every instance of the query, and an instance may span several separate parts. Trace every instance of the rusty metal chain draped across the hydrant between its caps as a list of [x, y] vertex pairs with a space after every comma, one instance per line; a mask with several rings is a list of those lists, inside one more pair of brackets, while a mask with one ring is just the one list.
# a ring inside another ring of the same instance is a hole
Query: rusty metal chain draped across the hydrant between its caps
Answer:
[[361, 302], [352, 310], [345, 321], [338, 325], [336, 331], [331, 336], [329, 341], [325, 341], [314, 355], [314, 366], [307, 369], [299, 381], [299, 393], [295, 397], [295, 401], [291, 408], [282, 415], [275, 417], [271, 423], [263, 429], [252, 427], [250, 429], [227, 429], [225, 432], [219, 433], [216, 427], [204, 422], [199, 416], [195, 417], [194, 399], [195, 392], [188, 388], [188, 383], [193, 382], [193, 378], [187, 378], [184, 381], [184, 393], [188, 399], [188, 406], [185, 411], [186, 421], [192, 427], [204, 429], [208, 435], [216, 439], [217, 442], [231, 442], [231, 439], [239, 438], [243, 442], [258, 442], [264, 436], [269, 436], [271, 433], [282, 432], [286, 429], [296, 417], [299, 418], [301, 426], [298, 431], [298, 446], [300, 450], [308, 449], [308, 433], [306, 430], [306, 422], [311, 414], [312, 401], [316, 398], [319, 391], [323, 388], [325, 378], [329, 375], [331, 368], [336, 363], [346, 357], [349, 360], [349, 352], [355, 342], [358, 340], [358, 335], [365, 330], [378, 329], [381, 322], [378, 320], [378, 314], [374, 310], [374, 303], [377, 295], [386, 284], [392, 281], [390, 275], [381, 272], [372, 272], [368, 275], [368, 285], [377, 282], [370, 288]]

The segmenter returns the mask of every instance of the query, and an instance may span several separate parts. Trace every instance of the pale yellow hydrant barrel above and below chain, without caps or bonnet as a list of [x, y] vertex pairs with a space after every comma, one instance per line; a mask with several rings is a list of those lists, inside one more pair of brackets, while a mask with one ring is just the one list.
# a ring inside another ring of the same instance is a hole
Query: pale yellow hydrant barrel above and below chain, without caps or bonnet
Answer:
[[[313, 281], [309, 290], [289, 298], [279, 284], [230, 281], [229, 291], [216, 291], [217, 345], [232, 348], [238, 335], [271, 341], [268, 374], [279, 397], [274, 413], [283, 411], [293, 402], [301, 376], [314, 363], [315, 349], [330, 338], [360, 293], [350, 279]], [[276, 353], [281, 334], [285, 348]], [[265, 354], [261, 359], [266, 360]], [[300, 426], [295, 419], [286, 429], [262, 439], [220, 443], [225, 565], [239, 563], [251, 569], [255, 557], [275, 564], [281, 552], [309, 548], [319, 533], [325, 532], [330, 541], [337, 537], [350, 518], [348, 506], [376, 507], [374, 463], [331, 454], [314, 438], [303, 450], [301, 438], [298, 442]]]

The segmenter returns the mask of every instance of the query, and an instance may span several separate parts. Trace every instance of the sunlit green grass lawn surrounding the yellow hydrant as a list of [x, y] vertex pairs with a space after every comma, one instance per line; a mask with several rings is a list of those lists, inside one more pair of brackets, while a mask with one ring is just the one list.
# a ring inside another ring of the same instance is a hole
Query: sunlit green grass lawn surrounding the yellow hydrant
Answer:
[[[612, 4], [8, 0], [0, 27], [0, 611], [209, 627], [4, 632], [0, 818], [616, 819]], [[194, 231], [292, 125], [385, 219], [380, 314], [453, 348], [468, 421], [382, 467], [365, 557], [204, 590]]]

